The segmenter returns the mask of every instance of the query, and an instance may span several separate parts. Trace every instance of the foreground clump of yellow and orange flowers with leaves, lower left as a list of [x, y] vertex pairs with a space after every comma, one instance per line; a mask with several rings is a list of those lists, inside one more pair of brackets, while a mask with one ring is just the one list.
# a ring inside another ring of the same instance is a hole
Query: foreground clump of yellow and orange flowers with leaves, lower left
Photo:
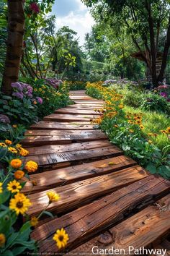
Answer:
[[[30, 218], [27, 216], [27, 210], [32, 205], [29, 197], [22, 193], [22, 188], [26, 183], [23, 179], [31, 172], [37, 171], [37, 163], [22, 161], [22, 156], [27, 155], [28, 151], [22, 148], [22, 145], [13, 145], [10, 140], [0, 143], [0, 148], [4, 148], [13, 156], [6, 155], [8, 166], [1, 169], [0, 175], [0, 255], [23, 255], [25, 252], [37, 253], [37, 242], [30, 239], [32, 229], [37, 226], [42, 214], [48, 214], [48, 206], [60, 199], [60, 196], [53, 191], [47, 192], [48, 204], [42, 210], [39, 216]], [[33, 186], [32, 182], [32, 186]], [[61, 249], [66, 247], [68, 234], [64, 229], [57, 230], [53, 236], [56, 246]]]

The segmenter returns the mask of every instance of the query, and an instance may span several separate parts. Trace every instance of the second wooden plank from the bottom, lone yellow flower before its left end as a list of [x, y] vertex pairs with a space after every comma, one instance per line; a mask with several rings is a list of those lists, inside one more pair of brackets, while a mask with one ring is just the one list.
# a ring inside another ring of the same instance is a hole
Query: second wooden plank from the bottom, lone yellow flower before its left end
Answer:
[[53, 234], [57, 229], [64, 228], [70, 238], [66, 249], [73, 249], [100, 231], [113, 226], [125, 213], [133, 212], [139, 206], [148, 205], [169, 192], [169, 189], [169, 181], [150, 175], [140, 182], [117, 190], [112, 195], [37, 227], [32, 232], [32, 239], [39, 240], [39, 252], [57, 252]]

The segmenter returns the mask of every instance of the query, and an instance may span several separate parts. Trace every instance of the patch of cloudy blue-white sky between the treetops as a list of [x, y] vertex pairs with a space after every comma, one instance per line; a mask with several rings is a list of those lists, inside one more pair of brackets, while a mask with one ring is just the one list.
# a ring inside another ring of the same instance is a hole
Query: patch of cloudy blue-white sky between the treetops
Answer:
[[55, 26], [57, 30], [63, 26], [68, 26], [77, 32], [79, 45], [84, 44], [84, 36], [91, 31], [94, 20], [89, 13], [89, 9], [81, 0], [55, 0], [53, 14], [56, 16]]

